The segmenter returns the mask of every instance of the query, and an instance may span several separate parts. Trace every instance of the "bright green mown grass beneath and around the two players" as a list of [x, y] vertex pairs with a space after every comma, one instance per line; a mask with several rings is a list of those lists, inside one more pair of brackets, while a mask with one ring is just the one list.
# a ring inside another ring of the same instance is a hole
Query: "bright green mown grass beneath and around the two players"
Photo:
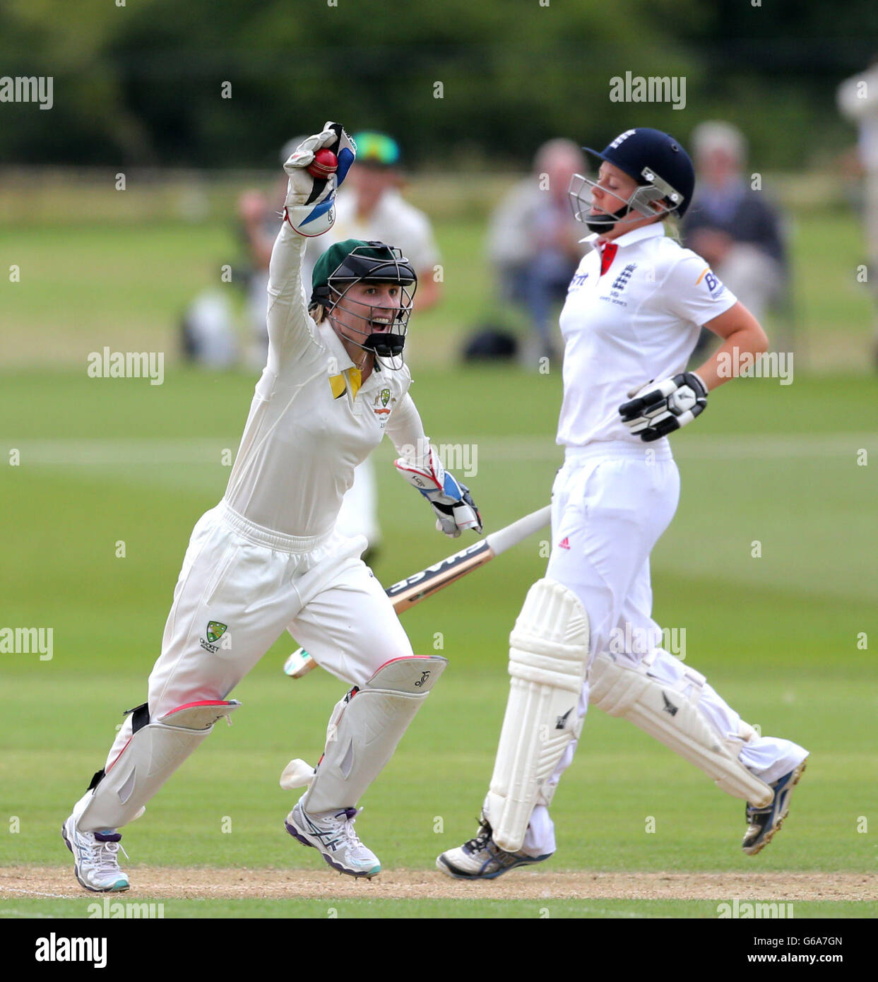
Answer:
[[[477, 447], [469, 483], [488, 529], [546, 502], [561, 459], [552, 439], [557, 377], [421, 370], [415, 379], [412, 395], [433, 439]], [[24, 884], [0, 886], [0, 916], [84, 916], [94, 900], [65, 899], [77, 888], [59, 827], [101, 766], [122, 711], [144, 697], [192, 524], [222, 494], [221, 453], [237, 446], [252, 384], [245, 374], [192, 372], [169, 372], [156, 387], [83, 372], [2, 380], [0, 450], [20, 454], [3, 473], [11, 520], [2, 621], [52, 627], [54, 646], [51, 660], [0, 656], [8, 707], [0, 787], [10, 828], [0, 837], [0, 874], [26, 870]], [[147, 867], [176, 866], [310, 878], [293, 897], [171, 898], [167, 917], [326, 917], [329, 907], [339, 917], [537, 917], [547, 904], [551, 917], [715, 917], [718, 902], [755, 896], [741, 875], [758, 873], [774, 878], [752, 878], [759, 899], [795, 896], [796, 917], [874, 916], [878, 672], [861, 639], [878, 636], [873, 388], [865, 377], [798, 375], [788, 387], [741, 381], [712, 396], [709, 411], [674, 440], [683, 495], [653, 554], [657, 620], [686, 628], [686, 660], [745, 719], [811, 751], [791, 816], [758, 857], [739, 849], [741, 802], [630, 725], [592, 711], [553, 806], [555, 858], [504, 877], [509, 897], [479, 897], [473, 885], [431, 897], [441, 879], [430, 872], [435, 855], [474, 831], [505, 705], [506, 636], [545, 567], [537, 535], [404, 618], [415, 650], [440, 650], [451, 666], [365, 795], [357, 829], [391, 876], [408, 871], [423, 889], [400, 899], [391, 884], [382, 899], [379, 878], [355, 884], [363, 891], [351, 898], [350, 884], [336, 887], [316, 852], [284, 834], [295, 797], [278, 787], [280, 772], [291, 757], [316, 758], [343, 691], [319, 671], [285, 679], [287, 638], [235, 691], [244, 706], [234, 727], [218, 727], [126, 830], [135, 890], [122, 900], [164, 896], [152, 887], [137, 893], [144, 864], [144, 876]], [[862, 450], [868, 465], [857, 463]], [[379, 449], [385, 544], [374, 568], [385, 582], [454, 548], [432, 530], [391, 459], [389, 446]], [[120, 540], [125, 558], [115, 555]], [[752, 555], [756, 540], [761, 558]], [[23, 890], [38, 888], [27, 869], [60, 871], [64, 889], [28, 897]], [[682, 888], [663, 900], [636, 890], [600, 897], [592, 887], [582, 899], [598, 871], [715, 874], [716, 896]], [[815, 872], [809, 889], [796, 886], [797, 876]], [[554, 874], [579, 877], [575, 897], [558, 893]], [[834, 894], [843, 880], [860, 887]], [[515, 896], [517, 885], [539, 891], [543, 882], [544, 902]], [[327, 899], [333, 890], [338, 896]]]

